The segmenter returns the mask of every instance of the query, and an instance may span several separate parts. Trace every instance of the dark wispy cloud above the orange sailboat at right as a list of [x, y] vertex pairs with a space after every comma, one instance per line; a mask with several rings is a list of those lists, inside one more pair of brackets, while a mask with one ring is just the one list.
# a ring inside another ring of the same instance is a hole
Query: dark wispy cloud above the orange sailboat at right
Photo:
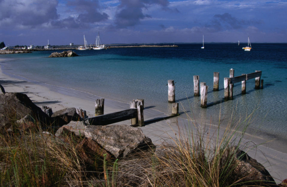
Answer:
[[215, 14], [213, 16], [211, 24], [207, 25], [207, 27], [213, 28], [215, 31], [221, 31], [223, 29], [240, 29], [253, 24], [260, 24], [260, 22], [253, 20], [237, 19], [229, 13], [224, 13]]

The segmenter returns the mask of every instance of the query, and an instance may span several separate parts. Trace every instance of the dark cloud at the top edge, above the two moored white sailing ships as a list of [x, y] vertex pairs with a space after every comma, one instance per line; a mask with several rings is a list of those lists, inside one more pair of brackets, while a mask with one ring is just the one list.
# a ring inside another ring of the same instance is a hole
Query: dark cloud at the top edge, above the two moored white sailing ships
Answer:
[[80, 12], [77, 17], [78, 22], [95, 23], [108, 19], [107, 13], [100, 13], [98, 11], [100, 5], [98, 1], [90, 0], [75, 0], [68, 1], [68, 6], [75, 7], [75, 10]]

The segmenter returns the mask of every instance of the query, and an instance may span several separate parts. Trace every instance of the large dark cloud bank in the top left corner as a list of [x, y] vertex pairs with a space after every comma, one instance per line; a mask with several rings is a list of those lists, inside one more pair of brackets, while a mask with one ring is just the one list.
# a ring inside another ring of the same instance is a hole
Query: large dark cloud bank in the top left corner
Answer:
[[2, 0], [0, 1], [0, 25], [34, 28], [57, 19], [57, 5], [56, 0]]

